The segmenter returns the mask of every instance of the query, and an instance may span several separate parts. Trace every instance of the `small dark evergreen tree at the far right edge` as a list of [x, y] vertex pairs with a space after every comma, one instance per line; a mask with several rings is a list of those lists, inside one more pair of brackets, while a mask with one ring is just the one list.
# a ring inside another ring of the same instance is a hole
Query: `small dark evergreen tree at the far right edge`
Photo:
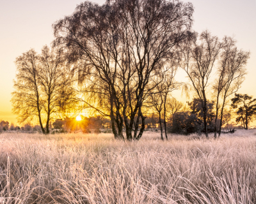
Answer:
[[244, 129], [248, 129], [248, 124], [252, 122], [256, 115], [256, 99], [252, 99], [252, 96], [247, 94], [235, 94], [231, 101], [232, 108], [237, 109], [236, 122], [241, 122]]

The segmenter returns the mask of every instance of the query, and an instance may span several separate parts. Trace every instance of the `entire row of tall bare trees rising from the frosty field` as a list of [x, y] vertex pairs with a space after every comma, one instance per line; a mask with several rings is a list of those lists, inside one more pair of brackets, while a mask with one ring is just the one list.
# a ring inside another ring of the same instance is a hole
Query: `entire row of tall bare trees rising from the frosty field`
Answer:
[[[171, 111], [173, 126], [179, 114], [188, 120], [195, 115], [207, 138], [214, 120], [216, 137], [250, 53], [239, 50], [233, 38], [198, 34], [192, 24], [193, 5], [177, 0], [81, 3], [53, 24], [52, 48], [17, 57], [13, 112], [19, 122], [36, 117], [48, 134], [50, 120], [87, 108], [110, 120], [115, 138], [124, 139], [125, 129], [127, 140], [140, 140], [150, 112], [156, 112], [161, 138], [164, 131], [167, 139]], [[189, 84], [175, 80], [178, 69]], [[172, 99], [172, 91], [181, 87], [195, 94], [197, 107], [189, 117]], [[250, 118], [241, 120], [246, 124]]]

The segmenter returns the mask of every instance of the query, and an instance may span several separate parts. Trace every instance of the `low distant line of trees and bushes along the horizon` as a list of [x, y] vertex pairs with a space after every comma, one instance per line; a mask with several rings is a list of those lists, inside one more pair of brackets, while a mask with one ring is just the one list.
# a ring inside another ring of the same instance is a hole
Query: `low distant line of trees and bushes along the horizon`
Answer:
[[[247, 103], [244, 101], [245, 105], [243, 106], [237, 106], [238, 98], [246, 98], [248, 101]], [[223, 110], [223, 120], [221, 122], [221, 127], [227, 129], [248, 129], [248, 124], [252, 122], [253, 119], [255, 119], [256, 100], [247, 95], [236, 94], [236, 97], [233, 98], [232, 101], [232, 105], [228, 109], [225, 108]], [[191, 102], [184, 104], [173, 98], [172, 100], [168, 100], [166, 107], [166, 127], [168, 133], [177, 133], [182, 135], [189, 135], [191, 133], [204, 133], [204, 113], [200, 99], [194, 98]], [[216, 118], [214, 112], [215, 108], [216, 103], [214, 101], [207, 101], [207, 129], [209, 133], [214, 132]], [[235, 116], [236, 122], [231, 122], [232, 118]], [[146, 115], [146, 129], [162, 129], [163, 131], [163, 128], [161, 128], [163, 123], [164, 120], [159, 117], [157, 112], [148, 113]], [[49, 126], [51, 132], [54, 131], [54, 133], [65, 133], [72, 131], [83, 131], [83, 133], [100, 133], [100, 129], [104, 129], [104, 132], [111, 132], [111, 120], [100, 115], [95, 117], [83, 117], [83, 115], [81, 115], [81, 121], [77, 121], [76, 118], [56, 119], [53, 122], [50, 122]], [[216, 126], [219, 129], [220, 119], [217, 120]], [[10, 124], [8, 121], [2, 120], [0, 122], [0, 131], [8, 130], [42, 132], [40, 126], [33, 126], [28, 122], [24, 124], [24, 126], [19, 127], [14, 126], [13, 123]], [[125, 130], [123, 129], [123, 131]]]

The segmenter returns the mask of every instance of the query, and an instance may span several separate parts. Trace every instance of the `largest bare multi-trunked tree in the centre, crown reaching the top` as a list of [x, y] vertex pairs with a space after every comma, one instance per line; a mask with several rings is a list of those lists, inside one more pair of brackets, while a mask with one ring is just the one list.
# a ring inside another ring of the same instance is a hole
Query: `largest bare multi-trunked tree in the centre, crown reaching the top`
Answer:
[[[141, 138], [145, 90], [188, 38], [192, 14], [193, 6], [180, 1], [115, 0], [102, 6], [85, 2], [53, 25], [55, 45], [63, 45], [70, 60], [83, 64], [78, 69], [90, 87], [86, 92], [97, 99], [103, 96], [100, 103], [86, 105], [109, 115], [115, 138], [124, 138], [123, 124], [127, 140]], [[109, 108], [102, 109], [101, 103]]]

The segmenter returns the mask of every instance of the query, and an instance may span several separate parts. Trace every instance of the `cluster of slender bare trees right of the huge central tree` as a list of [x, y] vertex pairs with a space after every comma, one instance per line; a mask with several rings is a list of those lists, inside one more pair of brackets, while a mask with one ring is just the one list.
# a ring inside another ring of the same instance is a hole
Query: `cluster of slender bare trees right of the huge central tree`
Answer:
[[[237, 49], [233, 38], [226, 36], [220, 41], [217, 36], [212, 36], [208, 31], [200, 34], [199, 38], [195, 36], [182, 47], [182, 69], [188, 74], [191, 86], [200, 99], [207, 138], [207, 92], [209, 93], [209, 89], [212, 88], [216, 94], [214, 98], [216, 100], [214, 137], [216, 138], [218, 117], [221, 124], [227, 98], [241, 87], [244, 80], [245, 66], [249, 56], [249, 52]], [[211, 87], [209, 83], [213, 75], [216, 78]], [[221, 125], [219, 127], [220, 136]]]

